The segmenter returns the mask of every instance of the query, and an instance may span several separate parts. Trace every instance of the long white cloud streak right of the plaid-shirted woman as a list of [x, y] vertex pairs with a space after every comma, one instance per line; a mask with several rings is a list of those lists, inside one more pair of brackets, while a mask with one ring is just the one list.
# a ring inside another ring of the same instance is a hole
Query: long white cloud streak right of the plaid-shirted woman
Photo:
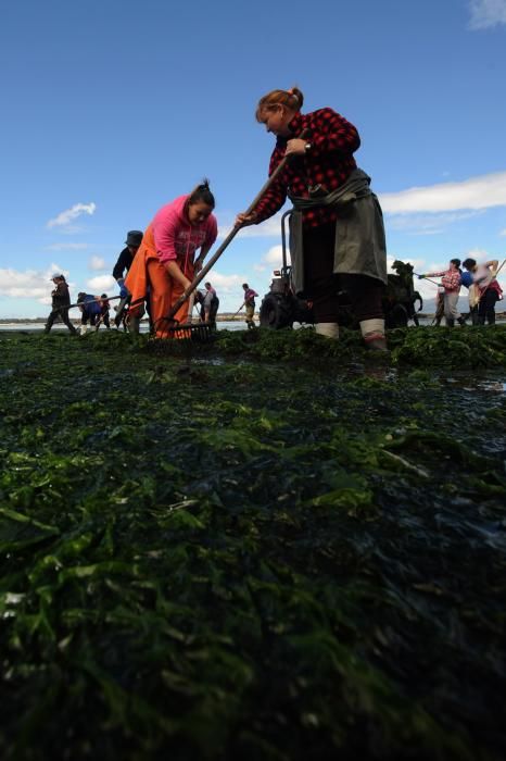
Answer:
[[409, 188], [380, 196], [381, 207], [390, 214], [441, 213], [464, 209], [480, 210], [506, 205], [506, 172]]

